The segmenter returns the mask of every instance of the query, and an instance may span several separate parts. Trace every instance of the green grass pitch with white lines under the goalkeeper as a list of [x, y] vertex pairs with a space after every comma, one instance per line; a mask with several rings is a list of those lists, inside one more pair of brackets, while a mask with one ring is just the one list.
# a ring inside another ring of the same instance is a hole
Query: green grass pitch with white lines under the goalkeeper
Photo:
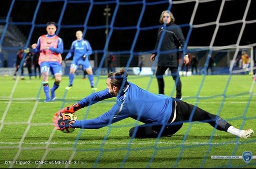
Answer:
[[[236, 128], [256, 131], [256, 89], [249, 75], [180, 77], [183, 101], [218, 114]], [[28, 79], [28, 78], [27, 78]], [[131, 76], [128, 80], [152, 93], [158, 91], [155, 77]], [[92, 93], [88, 79], [75, 76], [73, 88], [65, 90], [64, 76], [55, 102], [44, 103], [41, 80], [0, 77], [0, 168], [255, 168], [256, 160], [213, 160], [211, 156], [256, 156], [256, 135], [240, 139], [216, 131], [205, 123], [185, 123], [172, 137], [133, 139], [128, 137], [133, 119], [98, 130], [76, 129], [65, 134], [52, 125], [53, 114]], [[106, 76], [94, 76], [99, 90]], [[165, 94], [175, 96], [174, 81], [164, 77]], [[52, 87], [53, 79], [49, 79]], [[107, 99], [75, 114], [78, 119], [95, 118], [115, 103]]]

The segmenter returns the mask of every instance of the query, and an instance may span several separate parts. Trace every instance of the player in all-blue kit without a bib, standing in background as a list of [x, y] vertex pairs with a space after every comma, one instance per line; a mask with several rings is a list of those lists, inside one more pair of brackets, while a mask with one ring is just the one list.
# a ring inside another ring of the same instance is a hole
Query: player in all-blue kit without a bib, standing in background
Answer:
[[93, 72], [92, 72], [92, 68], [88, 58], [89, 55], [92, 54], [90, 43], [87, 40], [82, 38], [81, 30], [77, 30], [75, 33], [75, 36], [76, 36], [76, 40], [72, 42], [69, 52], [65, 57], [65, 60], [67, 60], [73, 55], [73, 60], [70, 65], [70, 71], [69, 71], [69, 84], [65, 89], [69, 90], [72, 88], [74, 73], [79, 68], [79, 65], [82, 65], [82, 70], [83, 71], [85, 70], [88, 74], [88, 79], [90, 81], [91, 89], [96, 90], [96, 88], [94, 88]]

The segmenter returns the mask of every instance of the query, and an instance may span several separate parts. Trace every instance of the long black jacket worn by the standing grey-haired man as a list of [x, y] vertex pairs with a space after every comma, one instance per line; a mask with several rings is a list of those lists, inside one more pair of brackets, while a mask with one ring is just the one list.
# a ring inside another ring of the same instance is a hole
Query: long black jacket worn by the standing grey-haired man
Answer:
[[[163, 34], [164, 33], [164, 34]], [[158, 49], [158, 43], [162, 37], [162, 42], [160, 44], [160, 49]], [[185, 38], [182, 33], [181, 28], [176, 24], [166, 25], [166, 29], [161, 26], [158, 29], [158, 35], [156, 39], [156, 44], [154, 47], [154, 54], [159, 52], [158, 56], [158, 66], [167, 67], [177, 67], [177, 49], [181, 47], [183, 49], [185, 43]]]

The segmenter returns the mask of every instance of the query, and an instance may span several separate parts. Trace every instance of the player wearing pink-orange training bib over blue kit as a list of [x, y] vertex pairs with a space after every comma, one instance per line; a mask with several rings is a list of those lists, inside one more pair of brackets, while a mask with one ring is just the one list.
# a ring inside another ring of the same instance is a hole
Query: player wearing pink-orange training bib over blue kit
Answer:
[[[44, 102], [55, 100], [55, 90], [59, 87], [62, 76], [62, 57], [63, 52], [63, 41], [60, 37], [55, 34], [57, 30], [55, 22], [47, 22], [46, 31], [47, 34], [41, 35], [37, 43], [32, 44], [34, 52], [40, 52], [38, 58], [38, 64], [40, 65], [43, 91], [46, 99]], [[50, 89], [51, 97], [49, 97], [49, 71], [54, 75], [54, 83]]]

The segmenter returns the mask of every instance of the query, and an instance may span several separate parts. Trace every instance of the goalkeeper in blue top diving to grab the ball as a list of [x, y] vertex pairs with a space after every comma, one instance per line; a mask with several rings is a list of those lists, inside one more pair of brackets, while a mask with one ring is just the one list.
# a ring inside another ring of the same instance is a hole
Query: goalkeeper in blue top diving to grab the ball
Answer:
[[[113, 107], [95, 119], [69, 120], [62, 113], [75, 111], [108, 98], [116, 98]], [[59, 118], [62, 117], [62, 118]], [[111, 72], [106, 79], [106, 89], [93, 93], [77, 103], [65, 107], [53, 116], [57, 130], [66, 128], [99, 129], [126, 118], [138, 120], [143, 125], [129, 130], [131, 138], [156, 138], [175, 134], [185, 122], [204, 122], [220, 131], [240, 138], [248, 138], [252, 129], [234, 128], [217, 115], [210, 114], [196, 106], [166, 95], [150, 93], [127, 81], [124, 69]]]

